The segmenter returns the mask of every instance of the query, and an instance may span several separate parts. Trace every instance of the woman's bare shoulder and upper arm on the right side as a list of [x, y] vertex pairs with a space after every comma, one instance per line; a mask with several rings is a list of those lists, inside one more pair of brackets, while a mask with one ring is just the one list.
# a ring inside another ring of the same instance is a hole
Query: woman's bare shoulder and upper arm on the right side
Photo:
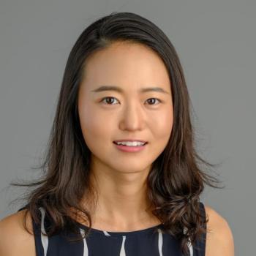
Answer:
[[233, 234], [227, 220], [210, 206], [205, 206], [207, 222], [206, 256], [234, 256]]

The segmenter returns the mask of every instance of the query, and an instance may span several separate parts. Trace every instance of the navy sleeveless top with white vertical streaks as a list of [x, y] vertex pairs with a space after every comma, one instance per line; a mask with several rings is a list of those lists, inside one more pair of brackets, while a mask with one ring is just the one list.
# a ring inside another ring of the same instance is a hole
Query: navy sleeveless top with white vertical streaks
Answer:
[[[24, 208], [26, 206], [18, 211]], [[206, 211], [201, 202], [200, 211], [206, 218]], [[61, 233], [49, 237], [43, 235], [41, 230], [45, 233], [49, 222], [45, 216], [45, 209], [39, 207], [39, 212], [41, 225], [37, 225], [32, 220], [37, 256], [182, 256], [176, 238], [162, 233], [162, 224], [127, 232], [110, 232], [91, 228], [87, 238], [74, 242], [67, 241]], [[80, 222], [76, 223], [82, 236], [88, 227]], [[68, 236], [72, 237], [72, 234]], [[190, 243], [188, 246], [190, 256], [205, 256], [206, 234], [202, 234], [194, 248]]]

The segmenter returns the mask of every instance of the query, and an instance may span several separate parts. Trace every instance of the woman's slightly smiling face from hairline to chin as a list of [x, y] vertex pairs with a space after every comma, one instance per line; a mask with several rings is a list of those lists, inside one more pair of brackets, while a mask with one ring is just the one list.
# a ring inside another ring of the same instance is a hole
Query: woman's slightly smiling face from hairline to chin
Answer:
[[[173, 127], [170, 80], [162, 59], [145, 45], [114, 42], [90, 56], [84, 72], [78, 113], [93, 166], [121, 173], [149, 170]], [[95, 91], [101, 86], [118, 91]], [[140, 91], [154, 87], [165, 92]], [[124, 152], [113, 143], [126, 139], [147, 144], [141, 151]]]

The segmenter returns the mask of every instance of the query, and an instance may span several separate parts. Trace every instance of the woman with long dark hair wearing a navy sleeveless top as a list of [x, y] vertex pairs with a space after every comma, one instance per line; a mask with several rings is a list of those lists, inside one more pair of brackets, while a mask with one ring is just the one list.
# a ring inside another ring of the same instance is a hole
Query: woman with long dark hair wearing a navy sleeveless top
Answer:
[[92, 23], [67, 60], [45, 176], [1, 220], [0, 255], [234, 255], [227, 221], [200, 202], [218, 181], [197, 162], [213, 166], [195, 151], [189, 103], [154, 23]]

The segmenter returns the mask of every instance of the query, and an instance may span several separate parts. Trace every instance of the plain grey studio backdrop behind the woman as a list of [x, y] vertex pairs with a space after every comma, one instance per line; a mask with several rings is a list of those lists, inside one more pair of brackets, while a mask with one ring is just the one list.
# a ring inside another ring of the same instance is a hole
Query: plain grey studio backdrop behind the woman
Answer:
[[69, 51], [91, 22], [135, 12], [170, 38], [184, 67], [197, 115], [198, 151], [222, 162], [225, 189], [201, 197], [229, 223], [236, 255], [255, 252], [256, 1], [0, 2], [0, 218], [24, 192], [8, 185], [36, 178], [53, 122]]

